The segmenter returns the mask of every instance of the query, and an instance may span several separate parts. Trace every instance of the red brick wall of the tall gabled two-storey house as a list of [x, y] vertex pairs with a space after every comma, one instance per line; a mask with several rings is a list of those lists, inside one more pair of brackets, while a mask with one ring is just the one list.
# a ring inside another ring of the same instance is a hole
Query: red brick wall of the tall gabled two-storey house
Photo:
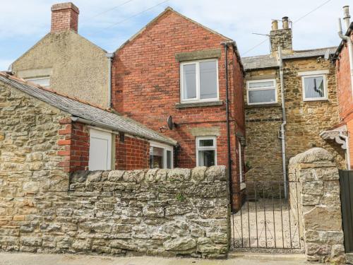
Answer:
[[[113, 107], [151, 129], [160, 131], [172, 115], [177, 128], [164, 134], [177, 140], [180, 148], [176, 167], [196, 166], [196, 134], [192, 129], [216, 129], [217, 164], [227, 165], [227, 130], [225, 103], [218, 106], [177, 108], [180, 103], [179, 61], [175, 54], [206, 49], [221, 49], [218, 60], [220, 100], [225, 102], [225, 51], [220, 44], [225, 37], [167, 11], [148, 25], [136, 38], [116, 52], [113, 61]], [[232, 134], [232, 168], [237, 168], [237, 130], [244, 132], [244, 116], [240, 114], [242, 79], [237, 57], [229, 47], [229, 100]], [[234, 68], [235, 65], [235, 68]], [[237, 91], [236, 91], [237, 90]], [[237, 104], [233, 104], [237, 102]], [[236, 111], [237, 110], [237, 111]]]

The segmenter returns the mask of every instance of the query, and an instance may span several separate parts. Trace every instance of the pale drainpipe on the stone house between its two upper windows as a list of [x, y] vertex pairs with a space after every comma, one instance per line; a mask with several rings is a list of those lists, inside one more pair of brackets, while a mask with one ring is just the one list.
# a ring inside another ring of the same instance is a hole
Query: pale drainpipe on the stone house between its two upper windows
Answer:
[[278, 59], [280, 60], [280, 84], [281, 84], [281, 105], [282, 105], [282, 124], [281, 124], [281, 143], [282, 143], [282, 171], [283, 182], [285, 184], [285, 198], [287, 199], [287, 167], [286, 167], [286, 146], [285, 146], [285, 125], [287, 124], [285, 109], [285, 82], [283, 81], [283, 61], [282, 47], [278, 47]]

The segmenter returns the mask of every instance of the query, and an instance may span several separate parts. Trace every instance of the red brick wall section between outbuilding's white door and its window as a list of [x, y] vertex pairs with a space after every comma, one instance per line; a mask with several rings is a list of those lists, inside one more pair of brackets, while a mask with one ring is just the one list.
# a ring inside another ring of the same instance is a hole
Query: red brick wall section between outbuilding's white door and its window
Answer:
[[116, 136], [116, 170], [140, 170], [150, 166], [150, 143], [129, 136]]

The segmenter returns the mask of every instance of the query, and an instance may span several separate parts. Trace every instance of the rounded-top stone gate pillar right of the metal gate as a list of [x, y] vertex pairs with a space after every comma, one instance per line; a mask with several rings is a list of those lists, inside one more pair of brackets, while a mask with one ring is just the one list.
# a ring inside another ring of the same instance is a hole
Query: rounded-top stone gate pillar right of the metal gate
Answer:
[[[344, 264], [340, 182], [334, 161], [323, 148], [312, 148], [291, 158], [289, 181], [298, 182], [298, 206], [289, 199], [294, 216], [301, 219], [300, 234], [308, 261]], [[289, 184], [289, 196], [297, 192], [292, 187]]]

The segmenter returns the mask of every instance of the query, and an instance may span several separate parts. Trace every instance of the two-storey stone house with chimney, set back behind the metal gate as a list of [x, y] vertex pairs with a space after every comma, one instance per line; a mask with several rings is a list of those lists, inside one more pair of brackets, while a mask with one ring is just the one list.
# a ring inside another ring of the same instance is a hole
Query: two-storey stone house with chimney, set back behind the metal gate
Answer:
[[338, 122], [335, 66], [329, 60], [336, 47], [294, 50], [289, 22], [283, 18], [278, 28], [273, 20], [270, 54], [242, 58], [249, 182], [285, 181], [289, 158], [315, 146], [334, 153], [344, 164], [340, 146], [320, 136]]

